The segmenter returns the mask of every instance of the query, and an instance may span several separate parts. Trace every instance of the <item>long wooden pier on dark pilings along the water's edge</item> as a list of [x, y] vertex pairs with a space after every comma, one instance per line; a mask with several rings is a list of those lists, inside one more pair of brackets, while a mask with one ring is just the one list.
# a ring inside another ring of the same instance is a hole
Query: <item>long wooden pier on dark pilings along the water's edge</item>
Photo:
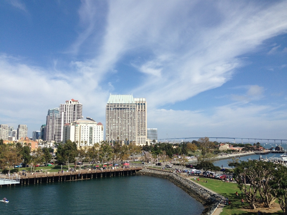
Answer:
[[141, 167], [133, 168], [117, 168], [117, 169], [106, 169], [106, 170], [77, 170], [74, 172], [66, 171], [64, 173], [34, 173], [27, 176], [20, 177], [20, 184], [41, 184], [41, 183], [51, 183], [51, 182], [62, 182], [62, 181], [76, 181], [85, 180], [93, 178], [103, 178], [103, 177], [115, 177], [124, 175], [135, 175], [137, 171], [140, 171]]

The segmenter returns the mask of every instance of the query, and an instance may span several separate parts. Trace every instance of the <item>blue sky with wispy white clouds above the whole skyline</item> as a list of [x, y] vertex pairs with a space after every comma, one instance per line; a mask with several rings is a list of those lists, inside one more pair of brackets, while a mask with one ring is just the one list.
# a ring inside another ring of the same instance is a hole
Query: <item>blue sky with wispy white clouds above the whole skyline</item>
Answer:
[[105, 126], [146, 98], [158, 138], [287, 139], [287, 1], [1, 1], [0, 124], [69, 99]]

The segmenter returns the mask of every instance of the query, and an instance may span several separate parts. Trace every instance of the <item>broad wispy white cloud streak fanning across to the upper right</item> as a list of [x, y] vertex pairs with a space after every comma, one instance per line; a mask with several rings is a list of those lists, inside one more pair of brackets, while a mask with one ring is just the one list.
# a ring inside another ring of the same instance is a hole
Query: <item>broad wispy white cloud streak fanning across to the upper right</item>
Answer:
[[[220, 14], [220, 19], [207, 28], [198, 19], [202, 9], [197, 11], [196, 3], [112, 1], [103, 51], [96, 61], [107, 70], [125, 54], [144, 48], [152, 56], [138, 70], [154, 77], [133, 91], [145, 92], [151, 106], [182, 101], [221, 86], [242, 66], [238, 56], [286, 32], [283, 7], [286, 2], [267, 7], [213, 3], [209, 9]], [[162, 55], [172, 58], [162, 64]], [[152, 67], [151, 62], [162, 66]]]

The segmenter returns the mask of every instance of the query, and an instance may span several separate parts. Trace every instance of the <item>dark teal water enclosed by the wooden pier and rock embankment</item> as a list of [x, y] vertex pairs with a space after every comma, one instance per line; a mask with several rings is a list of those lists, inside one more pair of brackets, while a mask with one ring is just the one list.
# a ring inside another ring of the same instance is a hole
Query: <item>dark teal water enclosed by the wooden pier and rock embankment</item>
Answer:
[[204, 207], [167, 179], [123, 176], [0, 188], [1, 215], [201, 214]]

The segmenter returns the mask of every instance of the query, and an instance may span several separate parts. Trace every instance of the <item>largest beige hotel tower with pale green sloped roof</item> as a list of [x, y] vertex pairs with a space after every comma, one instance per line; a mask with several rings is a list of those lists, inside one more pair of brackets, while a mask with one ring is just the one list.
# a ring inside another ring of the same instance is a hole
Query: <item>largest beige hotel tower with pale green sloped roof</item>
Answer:
[[106, 105], [106, 141], [146, 143], [145, 98], [110, 95]]

